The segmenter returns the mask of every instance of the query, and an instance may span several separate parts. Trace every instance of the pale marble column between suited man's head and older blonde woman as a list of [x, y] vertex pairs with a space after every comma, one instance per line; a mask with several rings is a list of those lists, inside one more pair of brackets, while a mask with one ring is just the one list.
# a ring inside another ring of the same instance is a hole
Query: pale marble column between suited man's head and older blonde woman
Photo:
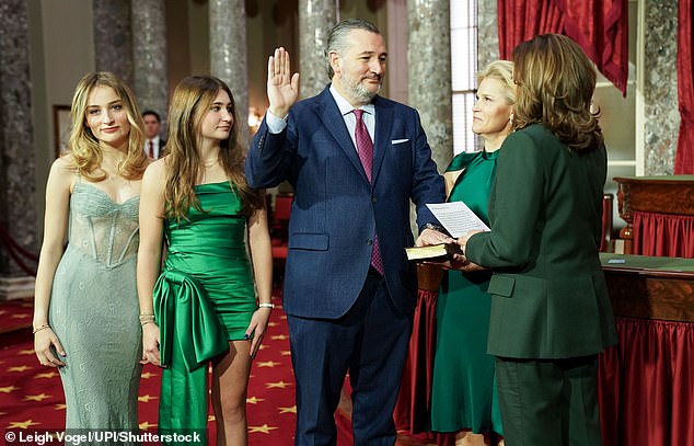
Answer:
[[407, 22], [407, 96], [443, 171], [453, 158], [449, 0], [408, 0]]

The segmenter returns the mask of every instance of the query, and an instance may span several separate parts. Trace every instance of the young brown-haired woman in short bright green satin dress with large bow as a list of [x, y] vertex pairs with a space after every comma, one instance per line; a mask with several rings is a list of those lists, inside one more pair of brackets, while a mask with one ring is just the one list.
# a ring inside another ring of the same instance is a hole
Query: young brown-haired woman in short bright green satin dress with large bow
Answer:
[[217, 445], [247, 442], [251, 362], [273, 308], [265, 201], [245, 182], [240, 123], [222, 81], [184, 79], [167, 155], [146, 171], [140, 207], [142, 361], [164, 367], [159, 430], [205, 433], [211, 362]]

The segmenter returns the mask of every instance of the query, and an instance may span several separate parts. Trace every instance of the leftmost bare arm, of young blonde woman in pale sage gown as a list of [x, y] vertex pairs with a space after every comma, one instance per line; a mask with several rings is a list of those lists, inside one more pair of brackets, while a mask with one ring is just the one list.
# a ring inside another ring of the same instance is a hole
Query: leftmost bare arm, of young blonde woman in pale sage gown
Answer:
[[76, 174], [66, 158], [54, 161], [46, 183], [46, 214], [44, 218], [44, 241], [41, 247], [36, 289], [34, 298], [34, 351], [38, 362], [45, 366], [58, 367], [65, 363], [57, 358], [51, 346], [65, 356], [66, 352], [48, 325], [48, 308], [53, 279], [62, 258], [70, 215], [70, 194]]

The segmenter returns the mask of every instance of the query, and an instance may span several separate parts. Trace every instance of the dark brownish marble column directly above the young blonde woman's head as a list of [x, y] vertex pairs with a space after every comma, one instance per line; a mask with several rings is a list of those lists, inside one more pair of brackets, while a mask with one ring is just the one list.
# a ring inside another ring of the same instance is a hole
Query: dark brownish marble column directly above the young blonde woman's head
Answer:
[[130, 1], [92, 0], [96, 71], [111, 71], [132, 85]]

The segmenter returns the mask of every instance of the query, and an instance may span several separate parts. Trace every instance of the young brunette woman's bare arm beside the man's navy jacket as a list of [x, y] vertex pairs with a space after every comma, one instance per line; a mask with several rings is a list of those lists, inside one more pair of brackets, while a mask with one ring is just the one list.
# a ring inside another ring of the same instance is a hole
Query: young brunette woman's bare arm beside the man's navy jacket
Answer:
[[[253, 262], [253, 275], [258, 301], [261, 304], [270, 304], [273, 294], [273, 249], [265, 207], [257, 209], [248, 219], [248, 247], [251, 249], [251, 261]], [[251, 343], [251, 356], [253, 357], [255, 357], [263, 341], [270, 311], [270, 308], [258, 308], [246, 330], [247, 335], [254, 333]]]

